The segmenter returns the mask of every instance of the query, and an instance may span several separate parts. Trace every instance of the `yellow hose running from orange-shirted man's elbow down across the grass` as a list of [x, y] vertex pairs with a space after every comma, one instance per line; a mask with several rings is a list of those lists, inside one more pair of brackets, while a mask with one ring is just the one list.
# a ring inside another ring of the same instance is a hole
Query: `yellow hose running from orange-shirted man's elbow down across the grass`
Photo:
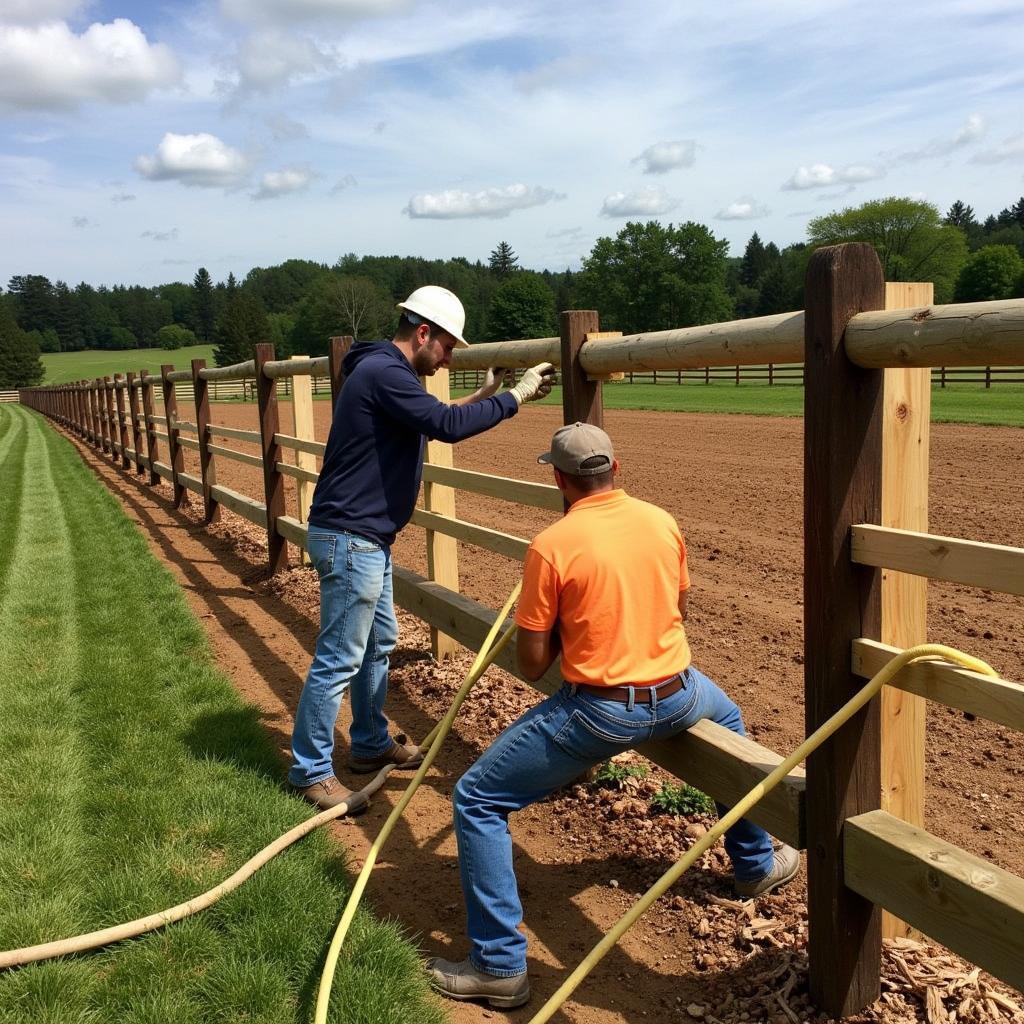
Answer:
[[355, 910], [358, 907], [359, 900], [361, 899], [362, 893], [367, 888], [367, 883], [370, 880], [370, 872], [373, 870], [374, 864], [377, 863], [377, 857], [381, 848], [387, 842], [387, 839], [394, 829], [394, 826], [397, 824], [398, 819], [402, 816], [402, 814], [404, 814], [406, 808], [409, 806], [409, 802], [413, 799], [414, 794], [420, 787], [420, 783], [430, 770], [430, 766], [434, 763], [434, 759], [440, 751], [441, 743], [444, 742], [449, 732], [452, 730], [452, 723], [455, 721], [456, 715], [459, 714], [459, 709], [462, 707], [463, 700], [466, 699], [469, 691], [476, 685], [477, 680], [483, 675], [484, 672], [486, 672], [488, 666], [501, 653], [505, 645], [515, 633], [515, 626], [513, 625], [505, 631], [498, 643], [494, 642], [495, 637], [498, 635], [498, 631], [501, 629], [502, 624], [508, 616], [512, 605], [515, 604], [516, 599], [519, 597], [519, 591], [521, 589], [522, 584], [518, 583], [512, 593], [509, 594], [509, 598], [505, 602], [505, 606], [498, 613], [498, 617], [490, 627], [490, 632], [483, 641], [483, 646], [474, 658], [473, 665], [466, 674], [466, 678], [463, 680], [462, 686], [459, 687], [459, 691], [456, 693], [455, 700], [452, 702], [452, 707], [449, 709], [447, 714], [441, 719], [440, 722], [438, 722], [437, 725], [434, 726], [433, 729], [430, 730], [423, 742], [420, 744], [421, 746], [428, 746], [429, 744], [426, 756], [423, 759], [423, 764], [420, 765], [416, 775], [413, 776], [412, 781], [406, 787], [406, 792], [401, 795], [401, 799], [397, 804], [395, 804], [394, 809], [391, 811], [387, 821], [384, 822], [384, 826], [377, 834], [377, 839], [374, 840], [373, 846], [370, 847], [370, 852], [367, 854], [366, 862], [362, 865], [362, 869], [359, 871], [359, 877], [355, 880], [355, 885], [352, 887], [352, 892], [349, 895], [348, 902], [345, 904], [345, 909], [342, 912], [341, 921], [338, 922], [338, 928], [334, 933], [334, 938], [331, 940], [331, 947], [327, 952], [327, 958], [324, 963], [324, 974], [321, 977], [319, 991], [316, 993], [316, 1012], [313, 1015], [313, 1024], [327, 1024], [328, 1004], [331, 1001], [331, 987], [334, 984], [334, 973], [338, 966], [338, 956], [341, 953], [341, 945], [345, 941], [345, 936], [348, 934], [348, 929], [352, 924], [352, 919], [355, 916]]

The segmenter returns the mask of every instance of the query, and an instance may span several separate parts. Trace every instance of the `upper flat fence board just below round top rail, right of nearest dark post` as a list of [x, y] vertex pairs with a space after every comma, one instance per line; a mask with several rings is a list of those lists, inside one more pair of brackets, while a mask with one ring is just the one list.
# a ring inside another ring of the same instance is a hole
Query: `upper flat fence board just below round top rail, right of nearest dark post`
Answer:
[[851, 527], [850, 540], [861, 565], [1024, 595], [1024, 548], [866, 524]]

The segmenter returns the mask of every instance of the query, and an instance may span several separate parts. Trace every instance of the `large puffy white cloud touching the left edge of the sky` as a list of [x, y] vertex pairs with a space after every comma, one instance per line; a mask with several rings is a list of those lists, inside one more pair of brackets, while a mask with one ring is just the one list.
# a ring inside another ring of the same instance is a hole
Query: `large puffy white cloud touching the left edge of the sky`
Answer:
[[76, 35], [62, 22], [38, 28], [0, 25], [0, 108], [44, 110], [86, 100], [131, 102], [179, 81], [171, 50], [151, 44], [119, 17]]

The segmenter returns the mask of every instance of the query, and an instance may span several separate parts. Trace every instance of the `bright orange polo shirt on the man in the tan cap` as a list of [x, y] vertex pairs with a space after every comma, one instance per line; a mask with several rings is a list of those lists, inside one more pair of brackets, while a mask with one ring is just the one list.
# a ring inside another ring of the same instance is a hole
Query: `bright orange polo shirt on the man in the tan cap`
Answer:
[[603, 490], [534, 538], [515, 621], [537, 632], [557, 623], [567, 682], [648, 685], [689, 667], [679, 613], [689, 585], [675, 519]]

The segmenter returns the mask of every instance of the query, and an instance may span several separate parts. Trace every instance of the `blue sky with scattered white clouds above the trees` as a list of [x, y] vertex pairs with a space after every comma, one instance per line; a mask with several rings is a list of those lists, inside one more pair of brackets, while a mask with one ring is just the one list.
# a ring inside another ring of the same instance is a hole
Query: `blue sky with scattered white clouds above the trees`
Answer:
[[1024, 194], [1017, 0], [0, 0], [0, 283]]

